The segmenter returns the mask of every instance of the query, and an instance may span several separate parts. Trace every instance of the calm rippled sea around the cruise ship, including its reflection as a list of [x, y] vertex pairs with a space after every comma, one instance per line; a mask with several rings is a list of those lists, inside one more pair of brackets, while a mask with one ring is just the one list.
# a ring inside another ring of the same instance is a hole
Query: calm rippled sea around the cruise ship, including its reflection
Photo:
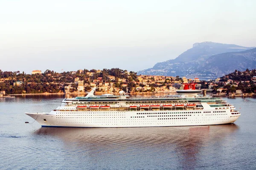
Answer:
[[[0, 169], [256, 169], [256, 99], [226, 98], [230, 125], [41, 127], [25, 112], [49, 112], [64, 96], [0, 98]], [[28, 121], [29, 124], [25, 124]]]

